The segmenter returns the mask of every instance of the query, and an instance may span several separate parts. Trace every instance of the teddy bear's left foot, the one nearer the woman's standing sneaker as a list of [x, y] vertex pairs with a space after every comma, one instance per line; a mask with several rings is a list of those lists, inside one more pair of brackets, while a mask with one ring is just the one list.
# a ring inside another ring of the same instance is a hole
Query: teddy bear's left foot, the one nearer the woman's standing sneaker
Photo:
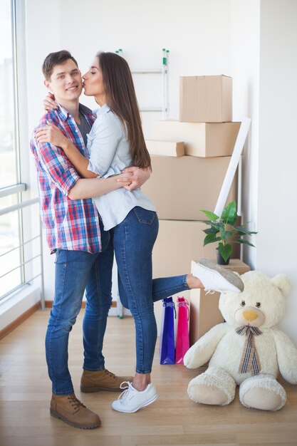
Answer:
[[235, 395], [235, 381], [225, 370], [210, 367], [189, 382], [188, 395], [195, 403], [227, 405]]

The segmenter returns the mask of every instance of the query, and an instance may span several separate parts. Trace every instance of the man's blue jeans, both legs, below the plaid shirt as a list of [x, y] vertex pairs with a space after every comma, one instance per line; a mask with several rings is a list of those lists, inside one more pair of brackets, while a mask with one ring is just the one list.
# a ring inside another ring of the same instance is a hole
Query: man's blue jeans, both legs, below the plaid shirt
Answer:
[[46, 361], [53, 393], [73, 393], [68, 370], [68, 338], [80, 311], [83, 293], [87, 303], [83, 318], [83, 347], [86, 370], [103, 370], [103, 336], [112, 302], [113, 241], [101, 230], [102, 253], [56, 251], [55, 299], [46, 333]]

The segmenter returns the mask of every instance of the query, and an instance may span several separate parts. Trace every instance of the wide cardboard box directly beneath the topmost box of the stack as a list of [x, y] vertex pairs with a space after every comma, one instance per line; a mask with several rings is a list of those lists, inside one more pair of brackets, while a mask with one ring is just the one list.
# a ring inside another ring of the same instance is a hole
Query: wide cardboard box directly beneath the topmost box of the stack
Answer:
[[185, 155], [222, 157], [232, 155], [241, 123], [180, 123], [155, 121], [154, 140], [184, 141]]

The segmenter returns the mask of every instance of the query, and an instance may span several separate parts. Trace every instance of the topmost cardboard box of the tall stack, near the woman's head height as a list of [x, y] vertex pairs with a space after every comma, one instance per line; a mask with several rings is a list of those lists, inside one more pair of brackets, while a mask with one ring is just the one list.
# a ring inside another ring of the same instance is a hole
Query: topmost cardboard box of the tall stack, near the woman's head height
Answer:
[[232, 78], [179, 78], [179, 120], [186, 123], [226, 123], [232, 120]]

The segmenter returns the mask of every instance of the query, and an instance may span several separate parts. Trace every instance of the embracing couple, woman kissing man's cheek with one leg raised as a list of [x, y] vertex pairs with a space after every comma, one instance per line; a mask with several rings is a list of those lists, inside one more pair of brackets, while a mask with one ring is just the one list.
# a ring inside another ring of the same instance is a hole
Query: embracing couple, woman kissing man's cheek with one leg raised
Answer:
[[[98, 53], [81, 76], [68, 51], [43, 62], [44, 84], [53, 93], [31, 139], [48, 247], [55, 254], [55, 296], [46, 332], [52, 382], [51, 415], [73, 427], [99, 427], [99, 415], [75, 397], [68, 370], [68, 338], [83, 294], [83, 374], [86, 393], [121, 390], [113, 410], [135, 413], [157, 399], [151, 380], [157, 340], [154, 302], [187, 289], [243, 290], [239, 276], [201, 259], [193, 274], [152, 279], [157, 238], [155, 205], [140, 190], [150, 177], [140, 112], [127, 62]], [[93, 96], [96, 112], [79, 103]], [[112, 303], [113, 257], [120, 300], [135, 320], [134, 376], [105, 368], [103, 338]]]

